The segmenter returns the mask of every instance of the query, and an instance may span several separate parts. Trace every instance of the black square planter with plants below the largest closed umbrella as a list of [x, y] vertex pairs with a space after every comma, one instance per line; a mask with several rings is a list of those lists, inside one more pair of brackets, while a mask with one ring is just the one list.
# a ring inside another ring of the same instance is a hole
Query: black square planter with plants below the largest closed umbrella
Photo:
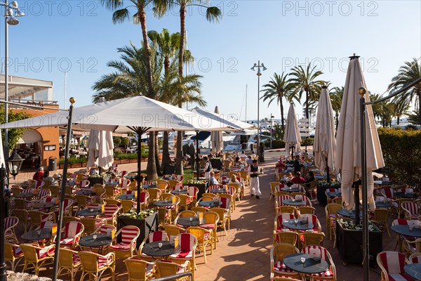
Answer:
[[[336, 223], [336, 244], [343, 263], [362, 263], [363, 261], [363, 227], [356, 225], [349, 218], [338, 218]], [[369, 258], [370, 264], [375, 265], [375, 257], [382, 248], [382, 231], [371, 221], [368, 222]]]

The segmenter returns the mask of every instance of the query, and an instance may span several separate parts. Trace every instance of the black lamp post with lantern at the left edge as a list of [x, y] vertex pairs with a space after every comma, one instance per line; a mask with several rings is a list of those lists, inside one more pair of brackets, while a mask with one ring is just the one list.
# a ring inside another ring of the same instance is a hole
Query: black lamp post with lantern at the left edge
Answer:
[[[7, 167], [10, 174], [15, 178], [19, 174], [20, 167], [22, 167], [23, 159], [13, 151], [13, 155], [6, 159]], [[6, 263], [4, 262], [4, 218], [8, 216], [6, 214], [8, 203], [4, 200], [4, 187], [6, 186], [6, 168], [1, 164], [0, 168], [0, 208], [4, 208], [0, 211], [0, 281], [6, 281]]]

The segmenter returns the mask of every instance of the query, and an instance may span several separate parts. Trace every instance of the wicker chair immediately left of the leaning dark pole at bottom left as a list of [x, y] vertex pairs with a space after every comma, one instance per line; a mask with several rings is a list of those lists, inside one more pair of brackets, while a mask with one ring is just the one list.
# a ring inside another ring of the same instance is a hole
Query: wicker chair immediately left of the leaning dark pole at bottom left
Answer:
[[35, 275], [39, 275], [39, 269], [48, 266], [54, 261], [53, 245], [46, 247], [37, 247], [33, 244], [21, 244], [20, 249], [23, 251], [25, 258], [25, 266], [22, 272], [27, 269], [34, 269]]

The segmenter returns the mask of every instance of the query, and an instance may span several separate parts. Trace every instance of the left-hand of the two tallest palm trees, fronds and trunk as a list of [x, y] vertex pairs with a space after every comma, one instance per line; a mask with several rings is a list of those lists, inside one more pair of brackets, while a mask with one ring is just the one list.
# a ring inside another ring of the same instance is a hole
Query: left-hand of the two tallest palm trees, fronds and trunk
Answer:
[[[135, 24], [140, 24], [142, 28], [142, 39], [143, 39], [143, 51], [145, 52], [145, 65], [147, 72], [147, 97], [155, 98], [154, 84], [152, 81], [152, 60], [151, 60], [151, 49], [149, 41], [147, 40], [147, 29], [146, 29], [146, 11], [145, 7], [149, 4], [153, 4], [154, 0], [129, 0], [131, 6], [124, 7], [123, 0], [100, 0], [100, 3], [107, 9], [114, 11], [112, 14], [112, 21], [114, 23], [121, 23], [125, 20], [133, 18]], [[124, 7], [124, 8], [123, 8]], [[131, 15], [129, 8], [134, 7], [135, 13]], [[149, 134], [149, 157], [147, 159], [147, 175], [148, 178], [157, 178], [156, 164], [155, 164], [155, 138], [154, 133]]]

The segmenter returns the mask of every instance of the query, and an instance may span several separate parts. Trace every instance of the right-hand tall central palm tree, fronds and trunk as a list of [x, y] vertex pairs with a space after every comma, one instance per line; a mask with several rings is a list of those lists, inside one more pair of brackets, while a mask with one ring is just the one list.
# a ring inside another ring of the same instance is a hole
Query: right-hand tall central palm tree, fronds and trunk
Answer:
[[[185, 55], [185, 35], [186, 35], [186, 9], [190, 6], [197, 6], [206, 8], [206, 20], [210, 22], [219, 22], [222, 18], [220, 8], [216, 6], [207, 6], [203, 0], [155, 0], [155, 12], [156, 15], [162, 16], [165, 14], [167, 9], [173, 8], [174, 6], [180, 7], [180, 48], [178, 49], [178, 74], [180, 79], [183, 76], [184, 55]], [[182, 107], [182, 103], [178, 104]], [[177, 155], [175, 157], [175, 170], [177, 174], [182, 174], [182, 133], [178, 131], [177, 138]]]

